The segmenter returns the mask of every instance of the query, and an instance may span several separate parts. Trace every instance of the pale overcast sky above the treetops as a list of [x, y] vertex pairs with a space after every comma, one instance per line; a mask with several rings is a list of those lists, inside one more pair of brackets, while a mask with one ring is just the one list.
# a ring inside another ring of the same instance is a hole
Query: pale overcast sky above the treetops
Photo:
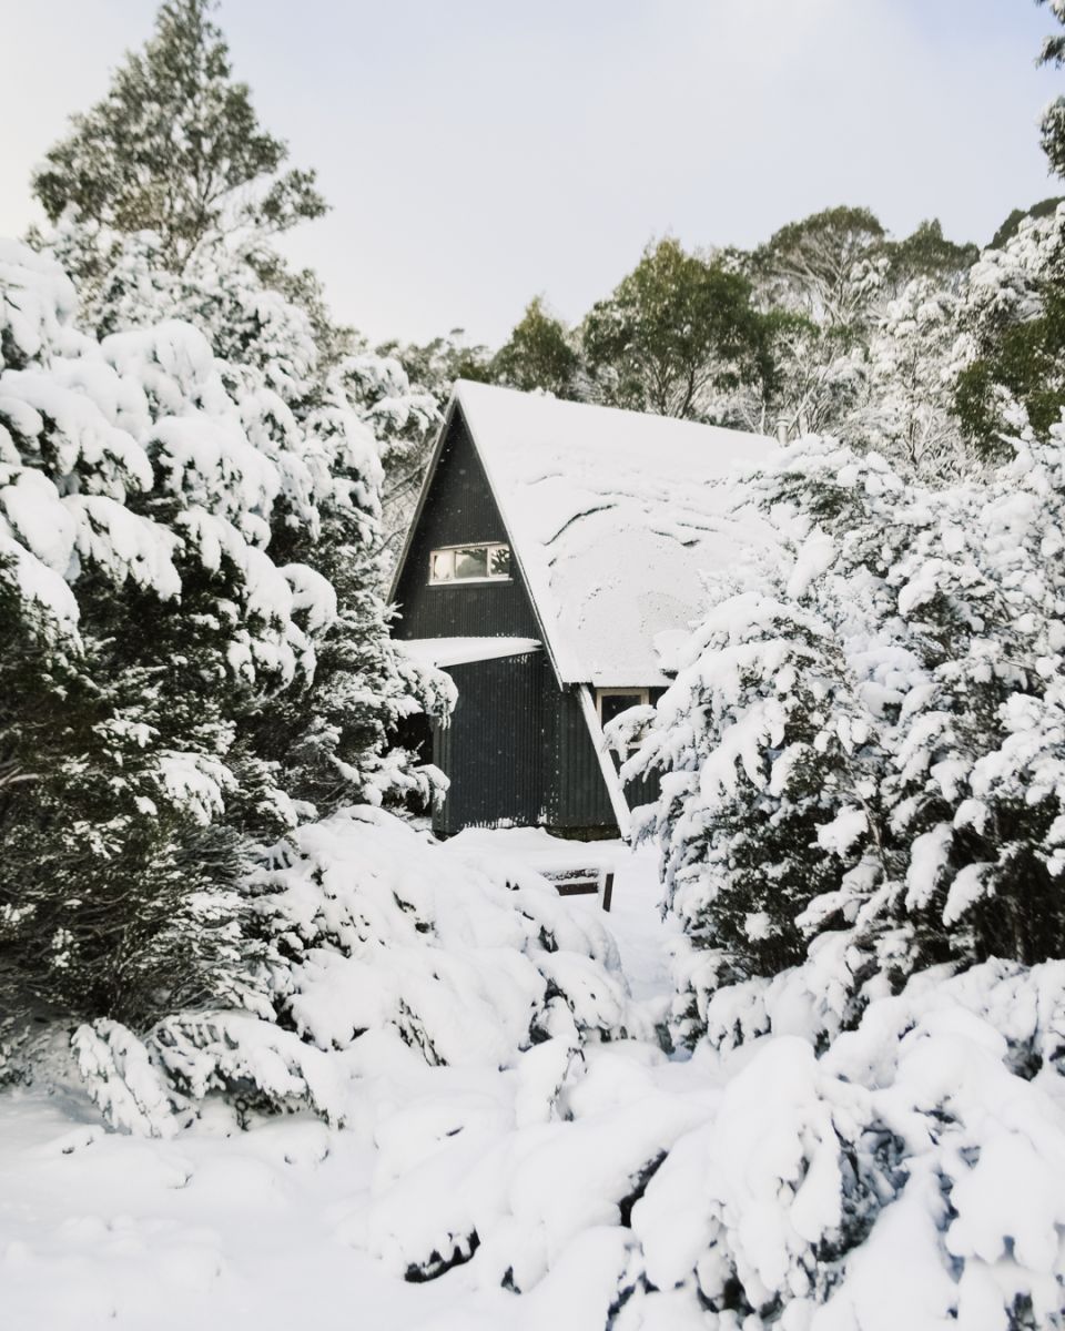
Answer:
[[[153, 0], [0, 0], [0, 233]], [[833, 204], [986, 242], [1057, 192], [1030, 0], [224, 0], [236, 73], [333, 210], [289, 242], [373, 338], [576, 319], [651, 237], [752, 245]], [[1065, 189], [1062, 189], [1065, 192]]]

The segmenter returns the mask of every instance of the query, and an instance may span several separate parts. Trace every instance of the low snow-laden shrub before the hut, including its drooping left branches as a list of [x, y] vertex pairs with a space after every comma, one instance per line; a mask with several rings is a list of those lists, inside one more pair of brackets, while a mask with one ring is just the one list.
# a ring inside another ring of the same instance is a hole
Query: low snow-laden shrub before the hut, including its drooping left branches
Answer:
[[[178, 1118], [222, 1090], [249, 1107], [302, 1105], [343, 1121], [346, 1055], [371, 1032], [430, 1065], [489, 1069], [546, 1041], [572, 1057], [627, 1033], [602, 925], [579, 921], [538, 874], [445, 851], [381, 809], [298, 828], [249, 890], [269, 981], [245, 1010], [176, 1013], [144, 1044], [114, 1022], [76, 1037], [116, 1126], [158, 1130], [158, 1106], [140, 1090], [156, 1082]], [[136, 1085], [122, 1086], [128, 1071]]]

